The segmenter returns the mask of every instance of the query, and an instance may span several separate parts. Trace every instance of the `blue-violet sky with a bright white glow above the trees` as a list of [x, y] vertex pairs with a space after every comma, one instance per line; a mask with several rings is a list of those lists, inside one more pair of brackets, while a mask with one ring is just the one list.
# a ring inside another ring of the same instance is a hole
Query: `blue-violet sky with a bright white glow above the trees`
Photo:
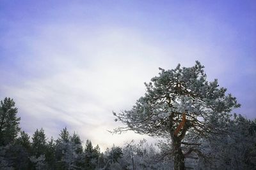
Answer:
[[255, 53], [256, 1], [0, 1], [0, 97], [30, 135], [154, 141], [110, 134], [122, 126], [112, 111], [131, 109], [159, 67], [195, 60], [255, 118]]

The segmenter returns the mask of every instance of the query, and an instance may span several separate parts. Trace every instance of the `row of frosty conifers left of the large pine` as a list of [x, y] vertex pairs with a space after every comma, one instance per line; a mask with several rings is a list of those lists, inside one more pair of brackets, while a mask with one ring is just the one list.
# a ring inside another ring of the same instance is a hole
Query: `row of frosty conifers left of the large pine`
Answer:
[[15, 102], [4, 98], [0, 106], [0, 169], [159, 169], [170, 162], [155, 161], [156, 148], [145, 140], [123, 147], [113, 145], [100, 152], [90, 139], [83, 141], [67, 127], [58, 139], [47, 138], [44, 129], [29, 136], [19, 127]]

